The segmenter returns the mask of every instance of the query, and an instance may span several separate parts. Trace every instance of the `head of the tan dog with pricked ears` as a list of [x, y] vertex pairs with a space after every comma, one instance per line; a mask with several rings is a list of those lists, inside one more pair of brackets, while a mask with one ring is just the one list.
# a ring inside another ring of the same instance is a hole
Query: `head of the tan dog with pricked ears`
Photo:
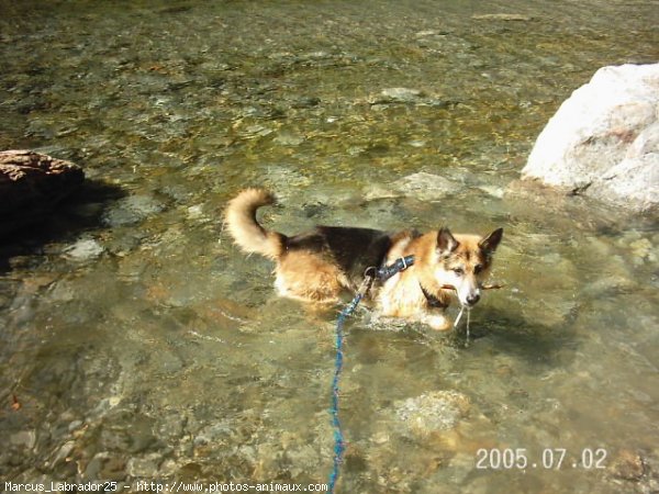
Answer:
[[471, 307], [481, 296], [481, 285], [492, 267], [492, 257], [503, 228], [485, 237], [453, 235], [448, 228], [437, 233], [435, 278], [440, 285], [453, 287], [460, 304]]

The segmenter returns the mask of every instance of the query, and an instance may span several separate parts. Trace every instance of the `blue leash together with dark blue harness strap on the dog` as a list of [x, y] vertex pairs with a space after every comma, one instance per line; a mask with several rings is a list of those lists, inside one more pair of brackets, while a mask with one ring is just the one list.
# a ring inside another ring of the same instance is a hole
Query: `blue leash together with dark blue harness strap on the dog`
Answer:
[[[334, 378], [332, 379], [332, 406], [330, 413], [332, 414], [332, 426], [334, 427], [334, 467], [330, 474], [330, 486], [328, 491], [334, 494], [334, 487], [338, 480], [338, 470], [343, 463], [343, 454], [346, 450], [346, 441], [344, 439], [343, 430], [340, 428], [340, 420], [338, 419], [338, 382], [340, 379], [340, 372], [343, 370], [343, 347], [344, 347], [344, 332], [343, 327], [346, 319], [353, 315], [359, 302], [366, 296], [368, 291], [373, 283], [373, 280], [378, 278], [380, 281], [386, 281], [394, 274], [407, 269], [407, 267], [414, 263], [414, 257], [401, 257], [396, 259], [391, 266], [386, 266], [380, 269], [368, 268], [364, 273], [364, 282], [359, 288], [359, 291], [350, 303], [338, 314], [336, 318], [336, 359], [334, 360]], [[369, 272], [372, 273], [369, 274]]]

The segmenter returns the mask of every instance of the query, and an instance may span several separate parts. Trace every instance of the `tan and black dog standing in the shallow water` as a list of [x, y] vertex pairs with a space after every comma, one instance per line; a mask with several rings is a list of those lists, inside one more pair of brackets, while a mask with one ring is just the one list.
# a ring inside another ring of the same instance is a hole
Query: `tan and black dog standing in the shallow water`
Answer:
[[275, 287], [282, 296], [306, 302], [336, 302], [356, 293], [367, 268], [388, 266], [405, 256], [413, 265], [369, 292], [386, 317], [421, 322], [434, 329], [451, 327], [446, 310], [453, 302], [471, 308], [481, 299], [503, 228], [490, 235], [454, 235], [442, 227], [421, 234], [403, 231], [316, 226], [294, 236], [265, 229], [257, 210], [275, 204], [264, 189], [245, 189], [228, 202], [225, 225], [235, 244], [276, 262]]

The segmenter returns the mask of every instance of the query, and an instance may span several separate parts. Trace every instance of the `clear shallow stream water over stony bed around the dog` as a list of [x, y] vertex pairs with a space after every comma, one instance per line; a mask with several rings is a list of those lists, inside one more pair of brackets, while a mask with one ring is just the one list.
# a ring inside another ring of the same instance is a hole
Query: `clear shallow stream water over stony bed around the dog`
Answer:
[[1, 480], [327, 481], [336, 312], [220, 222], [261, 184], [284, 233], [505, 228], [469, 345], [349, 323], [338, 492], [659, 490], [657, 223], [509, 187], [659, 5], [535, 3], [0, 0], [0, 147], [103, 184], [2, 247]]

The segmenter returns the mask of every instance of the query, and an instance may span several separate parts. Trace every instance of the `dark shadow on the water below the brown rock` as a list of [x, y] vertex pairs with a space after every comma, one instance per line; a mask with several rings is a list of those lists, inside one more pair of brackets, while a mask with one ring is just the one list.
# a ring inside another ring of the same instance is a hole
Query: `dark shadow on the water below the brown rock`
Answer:
[[40, 252], [48, 243], [101, 228], [101, 217], [109, 203], [125, 195], [126, 192], [119, 186], [86, 180], [78, 190], [58, 203], [52, 214], [0, 237], [0, 273], [11, 271], [12, 257]]

